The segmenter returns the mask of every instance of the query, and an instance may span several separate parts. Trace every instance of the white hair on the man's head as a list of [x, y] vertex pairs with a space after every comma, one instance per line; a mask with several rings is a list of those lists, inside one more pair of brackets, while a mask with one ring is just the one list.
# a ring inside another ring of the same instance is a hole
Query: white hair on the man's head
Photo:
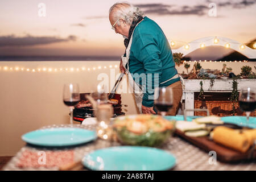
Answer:
[[[117, 2], [109, 9], [109, 14], [113, 12], [113, 19], [116, 21], [119, 18], [125, 20], [127, 24], [133, 23], [133, 20], [137, 20], [139, 16], [144, 17], [144, 14], [139, 9], [139, 7], [135, 7], [128, 2]], [[120, 25], [119, 22], [117, 22]]]

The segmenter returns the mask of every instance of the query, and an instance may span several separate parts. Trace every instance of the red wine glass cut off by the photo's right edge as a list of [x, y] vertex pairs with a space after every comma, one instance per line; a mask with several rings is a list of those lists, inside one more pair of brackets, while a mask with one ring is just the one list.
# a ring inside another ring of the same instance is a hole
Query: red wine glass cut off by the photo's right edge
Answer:
[[241, 109], [246, 113], [246, 127], [248, 127], [250, 113], [256, 109], [255, 90], [250, 87], [243, 88], [239, 94], [238, 100]]

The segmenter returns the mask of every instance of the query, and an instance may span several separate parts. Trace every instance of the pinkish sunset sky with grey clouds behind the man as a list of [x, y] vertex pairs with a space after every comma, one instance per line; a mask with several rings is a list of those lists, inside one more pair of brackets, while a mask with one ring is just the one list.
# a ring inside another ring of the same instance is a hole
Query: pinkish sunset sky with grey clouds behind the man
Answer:
[[[111, 29], [108, 19], [115, 2], [0, 1], [0, 56], [119, 56], [124, 51], [123, 38]], [[168, 39], [191, 42], [222, 36], [247, 43], [256, 38], [256, 0], [129, 2], [158, 23]], [[216, 17], [208, 15], [211, 2], [217, 5]], [[46, 5], [46, 17], [38, 15], [39, 3]], [[221, 57], [226, 53], [224, 48], [214, 48], [205, 49], [203, 55]], [[196, 54], [199, 51], [191, 56], [199, 57]]]

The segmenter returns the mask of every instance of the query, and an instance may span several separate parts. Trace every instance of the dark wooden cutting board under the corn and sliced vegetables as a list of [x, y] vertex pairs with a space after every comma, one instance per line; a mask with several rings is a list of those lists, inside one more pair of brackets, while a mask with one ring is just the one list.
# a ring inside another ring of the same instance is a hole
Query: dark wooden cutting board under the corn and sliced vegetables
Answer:
[[251, 150], [251, 148], [246, 153], [241, 153], [222, 146], [221, 144], [217, 144], [210, 140], [209, 137], [188, 137], [180, 130], [176, 130], [175, 134], [201, 148], [205, 152], [216, 151], [217, 160], [220, 160], [221, 162], [234, 163], [242, 160], [251, 161], [256, 159], [256, 150]]

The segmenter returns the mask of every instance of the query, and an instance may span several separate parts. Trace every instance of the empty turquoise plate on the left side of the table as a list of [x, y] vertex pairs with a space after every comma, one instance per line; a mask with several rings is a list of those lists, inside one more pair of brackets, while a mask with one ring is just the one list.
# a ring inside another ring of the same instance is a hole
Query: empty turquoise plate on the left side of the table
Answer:
[[39, 146], [60, 147], [73, 146], [94, 140], [97, 138], [95, 131], [79, 128], [52, 128], [31, 131], [22, 135], [22, 140]]

